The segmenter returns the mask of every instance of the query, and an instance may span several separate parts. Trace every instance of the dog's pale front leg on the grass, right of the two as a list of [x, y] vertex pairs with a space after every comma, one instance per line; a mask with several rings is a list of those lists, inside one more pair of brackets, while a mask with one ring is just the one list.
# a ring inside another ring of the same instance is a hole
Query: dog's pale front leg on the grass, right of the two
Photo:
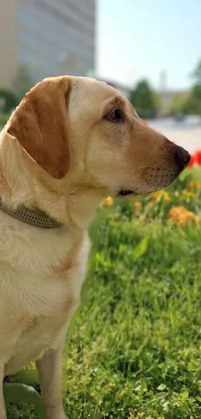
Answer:
[[55, 350], [50, 349], [36, 361], [48, 419], [67, 419], [62, 405], [62, 349], [63, 346]]

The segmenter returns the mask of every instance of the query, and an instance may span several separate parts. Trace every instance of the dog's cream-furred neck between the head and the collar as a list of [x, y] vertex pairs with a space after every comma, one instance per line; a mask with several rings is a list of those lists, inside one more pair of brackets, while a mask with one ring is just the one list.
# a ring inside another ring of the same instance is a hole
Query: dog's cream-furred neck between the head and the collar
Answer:
[[[33, 175], [34, 173], [34, 175]], [[102, 189], [70, 187], [64, 192], [62, 180], [44, 173], [21, 149], [17, 141], [0, 133], [0, 196], [10, 210], [23, 206], [38, 208], [59, 225], [86, 229], [105, 196]]]

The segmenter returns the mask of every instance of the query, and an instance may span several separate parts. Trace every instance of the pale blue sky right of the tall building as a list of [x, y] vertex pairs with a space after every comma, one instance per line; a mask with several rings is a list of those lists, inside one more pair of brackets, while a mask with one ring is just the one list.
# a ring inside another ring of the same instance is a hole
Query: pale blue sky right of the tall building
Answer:
[[201, 0], [97, 0], [97, 75], [186, 89], [201, 58]]

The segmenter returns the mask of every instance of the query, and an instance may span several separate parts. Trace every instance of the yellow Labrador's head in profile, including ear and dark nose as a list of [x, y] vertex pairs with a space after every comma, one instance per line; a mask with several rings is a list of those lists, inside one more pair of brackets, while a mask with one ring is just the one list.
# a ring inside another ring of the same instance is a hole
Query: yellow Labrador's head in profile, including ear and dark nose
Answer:
[[36, 84], [7, 123], [41, 176], [73, 190], [144, 194], [169, 185], [189, 153], [145, 126], [113, 87], [88, 77], [52, 77]]

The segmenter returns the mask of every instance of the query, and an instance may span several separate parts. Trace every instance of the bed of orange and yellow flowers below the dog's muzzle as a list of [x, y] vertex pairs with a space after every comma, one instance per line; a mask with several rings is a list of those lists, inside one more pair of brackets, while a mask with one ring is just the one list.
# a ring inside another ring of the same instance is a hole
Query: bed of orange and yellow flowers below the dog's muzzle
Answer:
[[113, 201], [107, 197], [103, 202], [106, 207], [115, 205], [116, 216], [129, 214], [149, 222], [159, 218], [163, 223], [187, 225], [201, 223], [201, 182], [194, 181], [192, 174], [177, 179], [169, 188], [150, 194], [136, 201]]

